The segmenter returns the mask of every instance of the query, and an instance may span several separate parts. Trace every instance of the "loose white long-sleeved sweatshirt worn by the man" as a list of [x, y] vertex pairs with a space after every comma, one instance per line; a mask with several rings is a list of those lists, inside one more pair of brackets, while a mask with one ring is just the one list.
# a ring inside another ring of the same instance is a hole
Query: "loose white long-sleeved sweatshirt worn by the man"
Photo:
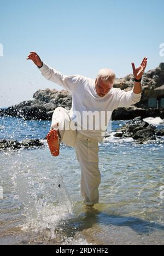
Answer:
[[[98, 142], [103, 141], [104, 132], [111, 120], [113, 110], [136, 104], [142, 95], [141, 93], [134, 94], [133, 90], [125, 92], [118, 88], [112, 88], [107, 95], [100, 97], [96, 92], [95, 79], [81, 75], [63, 75], [45, 63], [39, 70], [46, 79], [62, 86], [71, 93], [72, 108], [69, 113], [71, 119], [77, 123], [79, 132], [89, 138], [96, 139]], [[95, 113], [95, 118], [93, 115], [91, 118], [91, 113]], [[87, 115], [89, 115], [88, 121], [86, 121]], [[83, 118], [80, 119], [80, 117]], [[103, 125], [99, 125], [102, 121]]]

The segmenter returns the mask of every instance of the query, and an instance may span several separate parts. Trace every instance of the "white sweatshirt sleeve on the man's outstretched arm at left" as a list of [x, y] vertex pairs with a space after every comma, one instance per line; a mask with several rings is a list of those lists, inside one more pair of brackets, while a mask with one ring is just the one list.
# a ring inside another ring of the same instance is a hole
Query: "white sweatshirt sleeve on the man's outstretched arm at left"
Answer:
[[55, 84], [58, 84], [62, 86], [64, 89], [68, 90], [69, 92], [72, 92], [77, 88], [80, 80], [83, 79], [80, 75], [63, 75], [59, 71], [56, 71], [56, 69], [49, 67], [45, 63], [43, 63], [43, 66], [39, 68], [39, 70], [42, 72], [42, 75], [50, 80], [51, 82], [54, 82]]

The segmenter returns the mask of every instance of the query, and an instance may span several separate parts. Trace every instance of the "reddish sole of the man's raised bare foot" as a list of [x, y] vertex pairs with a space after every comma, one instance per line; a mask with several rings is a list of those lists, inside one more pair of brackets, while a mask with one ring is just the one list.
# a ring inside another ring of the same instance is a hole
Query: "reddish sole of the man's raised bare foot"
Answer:
[[60, 142], [57, 130], [51, 130], [46, 136], [46, 139], [52, 156], [58, 156], [60, 150]]

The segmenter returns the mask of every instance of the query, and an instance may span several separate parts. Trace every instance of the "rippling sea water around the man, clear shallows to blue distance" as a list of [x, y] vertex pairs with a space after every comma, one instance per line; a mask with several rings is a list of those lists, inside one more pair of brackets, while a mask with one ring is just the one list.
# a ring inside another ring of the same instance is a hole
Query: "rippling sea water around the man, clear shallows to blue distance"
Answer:
[[[123, 123], [113, 122], [113, 131]], [[43, 139], [49, 125], [0, 118], [0, 138]], [[92, 211], [81, 199], [74, 149], [62, 144], [60, 156], [53, 158], [44, 143], [0, 152], [1, 245], [164, 244], [164, 138], [138, 145], [112, 133], [99, 144], [100, 201]]]

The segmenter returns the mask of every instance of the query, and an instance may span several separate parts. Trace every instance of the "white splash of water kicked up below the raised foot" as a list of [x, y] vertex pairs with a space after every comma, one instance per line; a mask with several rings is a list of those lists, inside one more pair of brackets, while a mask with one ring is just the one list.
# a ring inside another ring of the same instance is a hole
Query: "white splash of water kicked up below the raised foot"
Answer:
[[14, 173], [15, 200], [24, 205], [22, 230], [45, 232], [46, 236], [53, 239], [58, 223], [74, 218], [72, 203], [62, 176], [55, 176], [54, 181], [40, 178], [39, 181], [33, 181], [28, 171], [24, 174]]

